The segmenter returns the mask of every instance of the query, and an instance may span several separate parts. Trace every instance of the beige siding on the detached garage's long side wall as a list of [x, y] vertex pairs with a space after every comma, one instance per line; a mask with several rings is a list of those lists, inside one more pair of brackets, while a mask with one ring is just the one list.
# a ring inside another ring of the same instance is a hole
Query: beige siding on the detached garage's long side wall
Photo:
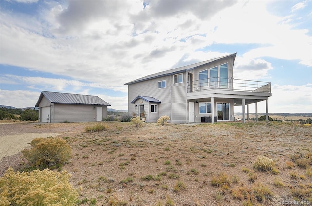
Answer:
[[53, 108], [51, 123], [96, 121], [96, 109], [92, 105], [54, 104]]

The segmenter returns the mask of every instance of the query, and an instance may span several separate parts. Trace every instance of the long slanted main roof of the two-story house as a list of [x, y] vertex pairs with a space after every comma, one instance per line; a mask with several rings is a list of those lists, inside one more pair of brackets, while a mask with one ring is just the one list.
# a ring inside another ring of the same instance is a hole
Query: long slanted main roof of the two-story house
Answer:
[[151, 75], [148, 75], [148, 76], [136, 79], [134, 81], [125, 83], [124, 85], [131, 85], [131, 84], [134, 84], [134, 83], [137, 83], [137, 82], [146, 81], [146, 80], [149, 80], [149, 79], [155, 79], [155, 78], [162, 77], [162, 76], [169, 76], [169, 75], [185, 72], [185, 71], [187, 71], [189, 69], [194, 69], [195, 67], [198, 67], [198, 66], [201, 66], [201, 65], [204, 65], [204, 64], [208, 64], [208, 63], [211, 63], [211, 62], [223, 59], [223, 58], [228, 58], [228, 57], [232, 57], [233, 58], [233, 62], [232, 63], [234, 65], [234, 61], [235, 61], [235, 58], [236, 58], [236, 53], [230, 54], [230, 55], [226, 55], [226, 56], [222, 56], [222, 57], [218, 57], [218, 58], [214, 58], [214, 59], [210, 59], [210, 60], [203, 61], [203, 62], [198, 62], [198, 63], [195, 63], [195, 64], [183, 66], [183, 67], [179, 67], [179, 68], [176, 68], [176, 69], [170, 69], [170, 70], [166, 70], [166, 71], [161, 71], [161, 72], [158, 72], [156, 74], [151, 74]]

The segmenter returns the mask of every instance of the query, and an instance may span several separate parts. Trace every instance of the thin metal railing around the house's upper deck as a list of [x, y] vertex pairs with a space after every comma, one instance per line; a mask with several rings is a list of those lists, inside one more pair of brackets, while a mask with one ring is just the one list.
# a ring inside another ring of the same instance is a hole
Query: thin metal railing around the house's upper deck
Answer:
[[226, 89], [232, 91], [271, 93], [271, 83], [218, 77], [187, 82], [188, 93], [207, 89]]

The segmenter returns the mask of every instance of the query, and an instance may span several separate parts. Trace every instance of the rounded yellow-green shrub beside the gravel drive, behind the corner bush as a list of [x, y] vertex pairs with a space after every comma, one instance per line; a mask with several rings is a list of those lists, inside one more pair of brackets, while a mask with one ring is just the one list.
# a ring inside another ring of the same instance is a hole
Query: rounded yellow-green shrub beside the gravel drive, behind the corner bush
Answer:
[[61, 138], [35, 138], [30, 145], [22, 153], [36, 168], [60, 167], [71, 158], [71, 148]]

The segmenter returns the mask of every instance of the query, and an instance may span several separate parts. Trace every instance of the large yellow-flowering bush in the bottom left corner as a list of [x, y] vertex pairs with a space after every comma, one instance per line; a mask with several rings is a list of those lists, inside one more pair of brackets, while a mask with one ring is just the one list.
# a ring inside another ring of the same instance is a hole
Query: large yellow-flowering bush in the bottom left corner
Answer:
[[66, 171], [20, 173], [10, 167], [0, 177], [0, 206], [74, 206], [79, 202], [78, 190], [69, 178]]

